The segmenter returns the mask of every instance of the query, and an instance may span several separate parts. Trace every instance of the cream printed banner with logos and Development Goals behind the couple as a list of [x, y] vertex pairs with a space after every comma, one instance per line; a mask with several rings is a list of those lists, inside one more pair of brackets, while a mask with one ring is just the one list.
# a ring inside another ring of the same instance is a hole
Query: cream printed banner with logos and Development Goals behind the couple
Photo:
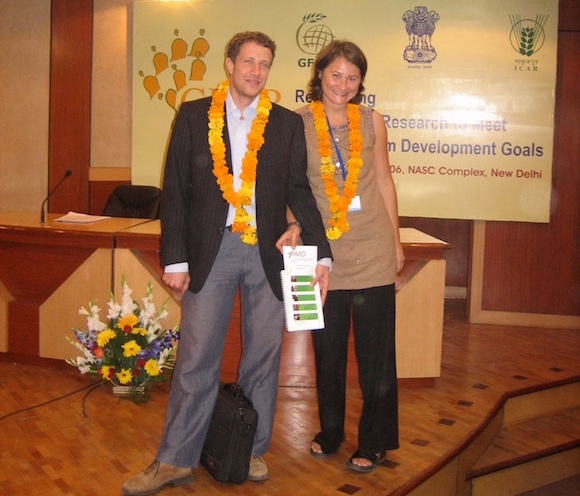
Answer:
[[133, 23], [135, 184], [161, 186], [179, 105], [225, 79], [233, 34], [259, 30], [277, 45], [267, 88], [290, 109], [332, 39], [365, 52], [401, 216], [549, 222], [557, 0], [135, 2]]

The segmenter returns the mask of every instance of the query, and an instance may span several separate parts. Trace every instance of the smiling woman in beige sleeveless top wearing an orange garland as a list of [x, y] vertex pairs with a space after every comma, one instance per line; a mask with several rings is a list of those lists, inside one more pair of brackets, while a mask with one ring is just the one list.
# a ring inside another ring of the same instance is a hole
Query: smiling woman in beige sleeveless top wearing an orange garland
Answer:
[[357, 45], [333, 41], [316, 59], [312, 103], [298, 110], [308, 179], [334, 259], [325, 329], [312, 333], [321, 431], [310, 453], [326, 458], [344, 440], [352, 318], [363, 409], [358, 449], [347, 466], [358, 472], [370, 472], [399, 446], [395, 278], [404, 262], [387, 129], [378, 112], [359, 105], [366, 70]]

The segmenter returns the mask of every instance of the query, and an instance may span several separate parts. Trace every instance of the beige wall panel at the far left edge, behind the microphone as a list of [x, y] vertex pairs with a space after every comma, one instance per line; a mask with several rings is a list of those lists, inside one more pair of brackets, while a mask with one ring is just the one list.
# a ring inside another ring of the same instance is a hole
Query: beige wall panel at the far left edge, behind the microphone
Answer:
[[0, 2], [0, 211], [38, 210], [48, 184], [50, 2]]

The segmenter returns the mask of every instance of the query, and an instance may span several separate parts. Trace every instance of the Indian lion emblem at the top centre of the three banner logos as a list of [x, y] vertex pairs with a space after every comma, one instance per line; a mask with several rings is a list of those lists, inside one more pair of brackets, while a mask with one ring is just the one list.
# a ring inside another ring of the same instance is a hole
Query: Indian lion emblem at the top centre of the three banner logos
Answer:
[[427, 7], [420, 6], [405, 12], [402, 19], [409, 35], [409, 43], [403, 52], [403, 58], [412, 64], [433, 62], [437, 52], [431, 43], [431, 37], [439, 14], [434, 10], [429, 12]]

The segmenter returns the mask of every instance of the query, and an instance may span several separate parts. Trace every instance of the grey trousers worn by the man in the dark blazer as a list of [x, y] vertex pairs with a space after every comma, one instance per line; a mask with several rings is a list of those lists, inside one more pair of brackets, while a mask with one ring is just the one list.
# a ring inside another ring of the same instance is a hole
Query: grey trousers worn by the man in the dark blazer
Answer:
[[258, 411], [252, 453], [268, 451], [272, 437], [280, 350], [282, 302], [264, 273], [258, 245], [226, 231], [203, 289], [187, 291], [181, 338], [157, 459], [197, 467], [217, 399], [225, 337], [236, 291], [241, 294], [242, 356], [238, 383]]

